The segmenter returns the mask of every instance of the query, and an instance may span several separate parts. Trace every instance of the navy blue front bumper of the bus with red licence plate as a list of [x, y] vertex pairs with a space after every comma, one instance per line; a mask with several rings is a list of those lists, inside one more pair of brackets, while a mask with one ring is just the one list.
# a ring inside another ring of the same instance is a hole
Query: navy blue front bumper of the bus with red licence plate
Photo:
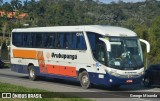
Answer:
[[112, 85], [130, 85], [142, 83], [143, 75], [137, 77], [118, 77], [110, 74], [89, 73], [90, 81], [93, 84]]

